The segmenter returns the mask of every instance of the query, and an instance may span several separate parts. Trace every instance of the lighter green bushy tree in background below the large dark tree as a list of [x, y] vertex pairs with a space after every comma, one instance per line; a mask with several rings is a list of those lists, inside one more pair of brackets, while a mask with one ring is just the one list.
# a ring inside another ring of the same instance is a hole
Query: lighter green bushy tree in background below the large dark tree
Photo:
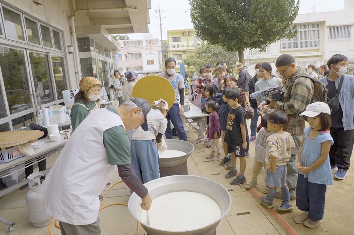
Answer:
[[183, 59], [183, 63], [189, 69], [193, 66], [195, 70], [199, 70], [206, 64], [213, 64], [216, 67], [219, 63], [226, 63], [232, 69], [236, 62], [237, 52], [230, 52], [219, 45], [211, 44], [202, 44]]

